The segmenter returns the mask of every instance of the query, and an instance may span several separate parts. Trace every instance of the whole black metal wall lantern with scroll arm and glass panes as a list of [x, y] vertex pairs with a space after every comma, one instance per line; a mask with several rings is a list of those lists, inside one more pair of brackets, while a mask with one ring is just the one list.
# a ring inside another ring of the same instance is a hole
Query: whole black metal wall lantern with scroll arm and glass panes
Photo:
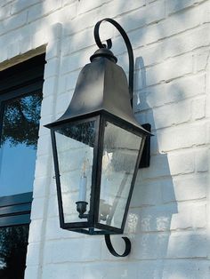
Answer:
[[[150, 133], [133, 116], [133, 51], [123, 28], [112, 23], [125, 39], [129, 54], [129, 87], [117, 58], [101, 44], [79, 74], [73, 98], [60, 119], [47, 124], [52, 135], [55, 178], [61, 227], [89, 235], [122, 234], [144, 143]], [[130, 92], [129, 92], [130, 90]]]

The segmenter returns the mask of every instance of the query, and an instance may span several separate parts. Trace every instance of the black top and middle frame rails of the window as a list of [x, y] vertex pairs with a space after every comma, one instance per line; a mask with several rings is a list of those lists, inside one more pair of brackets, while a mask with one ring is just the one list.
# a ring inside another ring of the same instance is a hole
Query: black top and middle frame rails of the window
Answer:
[[[0, 138], [2, 136], [4, 105], [31, 93], [43, 91], [45, 53], [0, 72]], [[30, 223], [33, 192], [0, 196], [0, 227]]]

